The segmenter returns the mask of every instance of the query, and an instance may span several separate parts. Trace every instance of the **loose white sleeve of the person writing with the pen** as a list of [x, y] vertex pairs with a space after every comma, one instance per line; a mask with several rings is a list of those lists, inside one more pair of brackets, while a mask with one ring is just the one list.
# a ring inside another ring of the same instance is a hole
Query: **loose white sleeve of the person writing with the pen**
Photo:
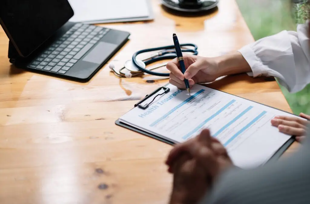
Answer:
[[289, 92], [302, 90], [310, 83], [310, 40], [308, 23], [297, 32], [282, 31], [238, 50], [249, 63], [248, 75], [277, 77]]

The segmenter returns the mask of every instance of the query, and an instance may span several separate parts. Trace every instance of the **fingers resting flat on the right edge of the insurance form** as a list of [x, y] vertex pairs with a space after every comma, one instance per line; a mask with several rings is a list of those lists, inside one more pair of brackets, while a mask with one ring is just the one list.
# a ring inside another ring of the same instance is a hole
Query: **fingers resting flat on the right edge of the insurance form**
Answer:
[[[304, 113], [300, 113], [299, 116], [310, 120], [310, 116]], [[310, 122], [298, 117], [276, 116], [271, 120], [271, 124], [278, 127], [280, 132], [294, 135], [298, 142], [302, 142], [308, 131], [307, 126]]]

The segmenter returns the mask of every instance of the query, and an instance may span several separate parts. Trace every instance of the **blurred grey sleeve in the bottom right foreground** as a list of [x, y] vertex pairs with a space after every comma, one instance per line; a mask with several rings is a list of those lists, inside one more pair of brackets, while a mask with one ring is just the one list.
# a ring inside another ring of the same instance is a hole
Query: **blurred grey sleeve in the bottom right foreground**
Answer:
[[290, 157], [224, 172], [200, 204], [310, 203], [310, 135]]

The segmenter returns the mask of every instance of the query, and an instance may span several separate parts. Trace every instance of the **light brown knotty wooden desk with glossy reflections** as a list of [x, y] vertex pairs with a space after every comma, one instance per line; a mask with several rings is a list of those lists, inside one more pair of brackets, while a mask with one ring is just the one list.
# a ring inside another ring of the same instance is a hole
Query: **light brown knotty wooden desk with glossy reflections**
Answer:
[[[111, 60], [117, 67], [136, 50], [172, 44], [173, 32], [209, 57], [253, 42], [234, 0], [221, 0], [213, 14], [188, 18], [152, 2], [153, 22], [104, 25], [131, 32]], [[10, 67], [7, 46], [1, 29], [0, 203], [168, 201], [172, 177], [164, 160], [172, 147], [114, 125], [167, 80], [119, 79], [104, 66], [89, 83], [74, 83]], [[241, 74], [211, 86], [290, 111], [275, 81]]]

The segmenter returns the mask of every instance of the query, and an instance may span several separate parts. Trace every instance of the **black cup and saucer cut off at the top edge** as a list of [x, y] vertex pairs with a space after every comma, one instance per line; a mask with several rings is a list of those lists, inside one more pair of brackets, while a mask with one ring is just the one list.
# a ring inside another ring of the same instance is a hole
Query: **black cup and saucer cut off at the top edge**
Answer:
[[179, 12], [201, 13], [217, 6], [219, 0], [162, 0], [162, 5]]

